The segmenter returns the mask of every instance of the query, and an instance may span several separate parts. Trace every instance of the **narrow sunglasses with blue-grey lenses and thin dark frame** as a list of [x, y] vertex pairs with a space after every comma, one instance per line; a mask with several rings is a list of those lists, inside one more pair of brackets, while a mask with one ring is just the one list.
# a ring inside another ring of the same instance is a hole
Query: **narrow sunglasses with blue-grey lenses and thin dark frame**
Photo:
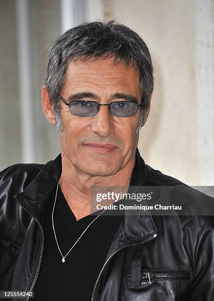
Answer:
[[59, 98], [65, 105], [69, 106], [71, 114], [80, 117], [95, 116], [99, 112], [100, 106], [108, 106], [109, 112], [117, 117], [134, 116], [138, 109], [142, 108], [142, 103], [139, 104], [136, 101], [113, 101], [108, 104], [101, 104], [91, 100], [71, 100], [66, 102], [60, 95]]

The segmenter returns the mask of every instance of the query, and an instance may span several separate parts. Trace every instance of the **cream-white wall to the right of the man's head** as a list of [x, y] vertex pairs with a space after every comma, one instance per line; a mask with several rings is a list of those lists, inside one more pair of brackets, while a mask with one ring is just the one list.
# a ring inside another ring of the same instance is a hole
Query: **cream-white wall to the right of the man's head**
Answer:
[[214, 0], [106, 0], [149, 46], [154, 92], [139, 150], [153, 168], [214, 185]]

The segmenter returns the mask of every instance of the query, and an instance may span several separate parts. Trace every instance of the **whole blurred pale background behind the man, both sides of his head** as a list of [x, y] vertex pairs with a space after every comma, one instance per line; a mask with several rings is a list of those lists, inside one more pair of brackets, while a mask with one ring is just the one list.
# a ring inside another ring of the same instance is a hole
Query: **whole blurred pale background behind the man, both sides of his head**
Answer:
[[145, 162], [189, 185], [214, 185], [214, 0], [0, 0], [0, 170], [59, 154], [59, 132], [41, 107], [49, 46], [83, 21], [109, 19], [137, 31], [152, 56]]

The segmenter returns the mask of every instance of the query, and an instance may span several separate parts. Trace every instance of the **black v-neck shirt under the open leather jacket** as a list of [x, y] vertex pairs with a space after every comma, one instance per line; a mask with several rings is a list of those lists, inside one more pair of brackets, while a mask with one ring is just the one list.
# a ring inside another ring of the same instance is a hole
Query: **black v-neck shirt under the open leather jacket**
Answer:
[[[124, 216], [100, 215], [62, 263], [52, 227], [55, 195], [56, 189], [48, 200], [45, 212], [44, 250], [34, 287], [34, 300], [90, 301], [96, 279]], [[96, 215], [88, 215], [76, 221], [59, 185], [54, 227], [63, 256], [95, 217]]]

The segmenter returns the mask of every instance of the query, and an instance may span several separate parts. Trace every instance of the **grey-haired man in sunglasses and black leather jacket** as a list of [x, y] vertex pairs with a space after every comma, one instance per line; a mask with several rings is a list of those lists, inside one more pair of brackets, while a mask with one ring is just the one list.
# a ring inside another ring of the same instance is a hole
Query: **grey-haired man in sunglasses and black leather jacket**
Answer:
[[[35, 300], [214, 300], [212, 216], [90, 211], [94, 186], [181, 184], [137, 150], [152, 92], [148, 48], [129, 28], [92, 22], [55, 40], [42, 106], [61, 155], [0, 174], [0, 290], [34, 291]], [[187, 202], [203, 199], [186, 189]]]

